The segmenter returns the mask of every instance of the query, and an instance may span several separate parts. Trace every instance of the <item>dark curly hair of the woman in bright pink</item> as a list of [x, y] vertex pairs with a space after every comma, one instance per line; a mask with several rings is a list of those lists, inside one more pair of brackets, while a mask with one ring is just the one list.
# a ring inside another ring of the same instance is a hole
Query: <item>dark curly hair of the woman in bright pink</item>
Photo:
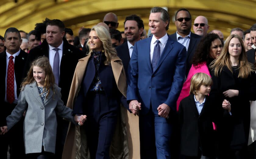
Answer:
[[220, 39], [219, 35], [217, 34], [207, 34], [205, 37], [201, 39], [195, 51], [195, 54], [191, 60], [191, 63], [194, 66], [197, 66], [205, 61], [207, 63], [210, 63], [211, 61], [210, 49], [211, 49], [212, 42], [215, 39], [219, 39], [222, 43], [222, 46], [224, 45], [224, 42]]

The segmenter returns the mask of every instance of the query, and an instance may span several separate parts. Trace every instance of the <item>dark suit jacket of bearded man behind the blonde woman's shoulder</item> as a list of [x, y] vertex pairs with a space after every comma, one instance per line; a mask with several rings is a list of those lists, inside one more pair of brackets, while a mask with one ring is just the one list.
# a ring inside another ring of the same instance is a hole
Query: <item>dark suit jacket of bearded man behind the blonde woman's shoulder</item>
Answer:
[[124, 67], [124, 70], [126, 72], [126, 77], [127, 77], [128, 65], [129, 65], [129, 62], [130, 62], [130, 59], [131, 59], [129, 49], [128, 49], [128, 42], [126, 41], [122, 45], [117, 46], [116, 47], [116, 52], [117, 52], [117, 55], [119, 56], [119, 58], [123, 62], [123, 67]]

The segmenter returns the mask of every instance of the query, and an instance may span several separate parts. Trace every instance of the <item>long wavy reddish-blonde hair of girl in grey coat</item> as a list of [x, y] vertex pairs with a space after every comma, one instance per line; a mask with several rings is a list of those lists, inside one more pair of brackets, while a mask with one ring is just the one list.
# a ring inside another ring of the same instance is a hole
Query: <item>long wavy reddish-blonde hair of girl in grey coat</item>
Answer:
[[44, 92], [47, 92], [47, 94], [46, 94], [46, 98], [47, 98], [50, 88], [52, 88], [53, 94], [55, 94], [54, 89], [53, 89], [53, 86], [55, 83], [55, 78], [52, 73], [52, 67], [50, 65], [49, 59], [44, 56], [40, 56], [32, 62], [30, 69], [27, 72], [27, 77], [21, 83], [21, 86], [20, 86], [21, 90], [24, 90], [24, 88], [27, 84], [33, 83], [35, 81], [34, 76], [33, 76], [33, 67], [34, 66], [40, 67], [40, 68], [44, 69], [44, 71], [45, 71], [44, 90], [43, 90], [42, 94]]

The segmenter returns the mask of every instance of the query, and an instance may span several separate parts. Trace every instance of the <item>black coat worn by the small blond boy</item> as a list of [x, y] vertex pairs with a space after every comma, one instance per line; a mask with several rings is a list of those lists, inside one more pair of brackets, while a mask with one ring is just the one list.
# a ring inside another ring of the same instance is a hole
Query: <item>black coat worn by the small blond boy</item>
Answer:
[[214, 156], [214, 130], [212, 122], [216, 122], [216, 110], [208, 96], [205, 97], [203, 109], [199, 115], [190, 94], [180, 102], [180, 153], [185, 156], [198, 156], [199, 148], [204, 156]]

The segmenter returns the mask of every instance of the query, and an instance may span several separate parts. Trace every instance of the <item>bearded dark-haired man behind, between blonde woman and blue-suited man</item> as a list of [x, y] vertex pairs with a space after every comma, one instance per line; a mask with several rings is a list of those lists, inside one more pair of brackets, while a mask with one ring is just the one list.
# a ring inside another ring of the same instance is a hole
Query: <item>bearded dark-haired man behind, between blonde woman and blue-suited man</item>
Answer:
[[140, 36], [143, 33], [144, 24], [143, 20], [137, 15], [130, 15], [125, 18], [124, 21], [124, 34], [127, 38], [127, 42], [116, 47], [116, 52], [119, 58], [121, 58], [124, 66], [124, 70], [127, 76], [127, 69], [132, 56], [133, 47], [136, 41], [140, 40]]

